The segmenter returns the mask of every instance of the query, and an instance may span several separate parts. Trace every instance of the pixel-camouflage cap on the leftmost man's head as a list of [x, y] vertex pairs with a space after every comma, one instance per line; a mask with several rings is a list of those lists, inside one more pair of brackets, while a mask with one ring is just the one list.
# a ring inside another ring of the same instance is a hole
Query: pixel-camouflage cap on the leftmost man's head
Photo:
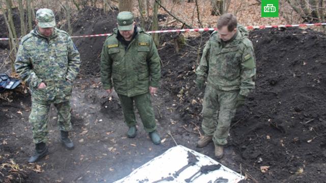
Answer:
[[56, 26], [55, 14], [53, 14], [52, 10], [47, 8], [41, 8], [37, 10], [36, 20], [38, 22], [38, 26], [41, 28]]

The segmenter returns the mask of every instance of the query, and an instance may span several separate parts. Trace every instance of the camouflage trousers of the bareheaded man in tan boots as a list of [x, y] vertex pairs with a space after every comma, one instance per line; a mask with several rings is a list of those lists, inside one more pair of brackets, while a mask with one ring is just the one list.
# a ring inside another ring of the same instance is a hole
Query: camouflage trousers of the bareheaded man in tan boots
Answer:
[[215, 145], [227, 144], [231, 120], [236, 112], [239, 90], [223, 91], [207, 85], [203, 100], [202, 129]]

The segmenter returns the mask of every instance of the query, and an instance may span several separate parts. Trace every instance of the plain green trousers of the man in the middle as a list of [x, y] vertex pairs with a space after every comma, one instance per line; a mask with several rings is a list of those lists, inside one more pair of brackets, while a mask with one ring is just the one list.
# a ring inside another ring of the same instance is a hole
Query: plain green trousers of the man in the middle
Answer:
[[134, 114], [134, 106], [133, 102], [138, 109], [139, 115], [142, 119], [144, 129], [146, 132], [153, 132], [156, 130], [155, 116], [151, 103], [151, 97], [149, 93], [127, 97], [124, 95], [118, 94], [122, 112], [124, 116], [125, 123], [128, 127], [132, 127], [136, 125], [136, 119]]

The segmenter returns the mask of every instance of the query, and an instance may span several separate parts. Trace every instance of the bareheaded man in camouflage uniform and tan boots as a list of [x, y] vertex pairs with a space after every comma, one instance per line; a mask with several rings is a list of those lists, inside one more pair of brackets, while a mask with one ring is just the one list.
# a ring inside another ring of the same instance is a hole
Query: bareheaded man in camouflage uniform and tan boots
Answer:
[[215, 157], [220, 159], [236, 109], [255, 87], [256, 61], [248, 31], [237, 26], [234, 15], [222, 15], [217, 28], [206, 43], [196, 70], [200, 89], [207, 78], [202, 110], [204, 137], [197, 146], [213, 141]]

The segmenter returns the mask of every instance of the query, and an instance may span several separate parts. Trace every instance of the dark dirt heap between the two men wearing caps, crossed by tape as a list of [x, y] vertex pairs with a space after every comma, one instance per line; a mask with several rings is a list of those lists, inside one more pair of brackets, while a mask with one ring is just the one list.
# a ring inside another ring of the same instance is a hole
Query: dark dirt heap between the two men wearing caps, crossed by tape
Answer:
[[[85, 8], [76, 16], [73, 24], [73, 36], [112, 33], [117, 26], [118, 11], [108, 15], [102, 9]], [[105, 36], [73, 39], [82, 59], [80, 73], [82, 75], [97, 75], [100, 71], [99, 60]]]

